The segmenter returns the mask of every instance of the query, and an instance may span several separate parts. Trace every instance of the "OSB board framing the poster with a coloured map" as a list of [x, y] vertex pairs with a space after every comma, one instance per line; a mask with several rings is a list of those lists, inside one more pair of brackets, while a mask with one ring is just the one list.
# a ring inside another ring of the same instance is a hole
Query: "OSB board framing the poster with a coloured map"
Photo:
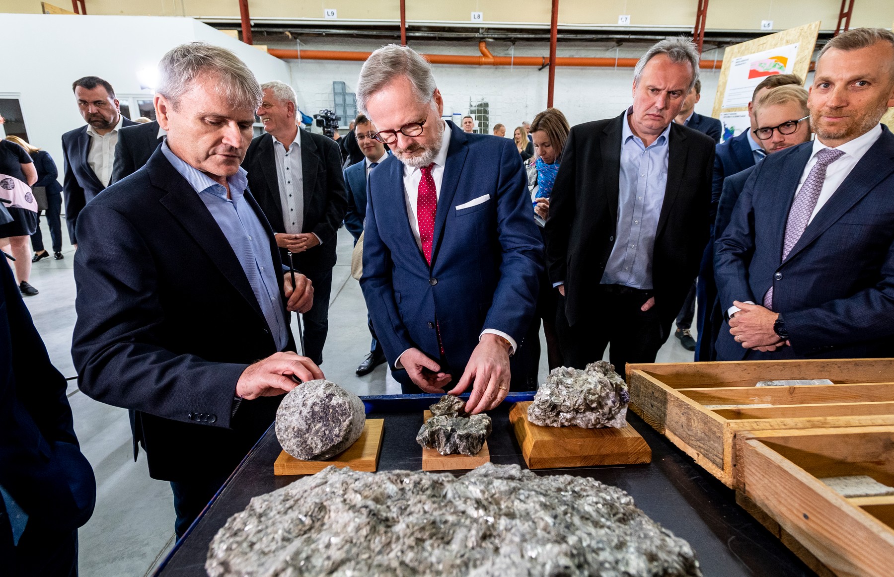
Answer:
[[717, 94], [714, 96], [713, 113], [714, 118], [720, 118], [721, 112], [730, 113], [735, 111], [747, 110], [747, 107], [738, 108], [722, 108], [723, 95], [726, 94], [727, 80], [730, 78], [730, 66], [734, 58], [746, 56], [747, 54], [755, 54], [763, 50], [769, 50], [780, 46], [788, 46], [789, 44], [798, 43], [797, 56], [795, 56], [795, 64], [792, 66], [792, 73], [801, 77], [802, 81], [807, 78], [807, 71], [810, 69], [810, 59], [814, 55], [814, 47], [816, 46], [816, 36], [820, 31], [820, 21], [811, 24], [790, 28], [771, 34], [762, 36], [754, 40], [748, 40], [741, 44], [728, 46], [723, 51], [723, 65], [721, 66], [721, 75], [717, 81]]

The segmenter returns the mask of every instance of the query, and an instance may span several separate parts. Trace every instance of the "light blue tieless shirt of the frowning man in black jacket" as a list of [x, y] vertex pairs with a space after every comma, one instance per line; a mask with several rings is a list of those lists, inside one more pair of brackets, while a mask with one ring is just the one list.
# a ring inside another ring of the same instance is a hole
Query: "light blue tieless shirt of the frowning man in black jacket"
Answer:
[[671, 125], [645, 146], [630, 130], [629, 113], [621, 131], [618, 224], [602, 284], [650, 290], [655, 233], [668, 181]]

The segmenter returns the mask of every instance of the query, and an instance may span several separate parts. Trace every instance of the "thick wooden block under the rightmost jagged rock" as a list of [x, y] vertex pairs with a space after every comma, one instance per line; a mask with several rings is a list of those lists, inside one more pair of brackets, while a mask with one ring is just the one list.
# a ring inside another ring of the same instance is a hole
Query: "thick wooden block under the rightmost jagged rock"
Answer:
[[630, 425], [623, 429], [541, 427], [527, 420], [530, 404], [531, 401], [516, 403], [509, 414], [529, 469], [652, 461], [652, 449]]

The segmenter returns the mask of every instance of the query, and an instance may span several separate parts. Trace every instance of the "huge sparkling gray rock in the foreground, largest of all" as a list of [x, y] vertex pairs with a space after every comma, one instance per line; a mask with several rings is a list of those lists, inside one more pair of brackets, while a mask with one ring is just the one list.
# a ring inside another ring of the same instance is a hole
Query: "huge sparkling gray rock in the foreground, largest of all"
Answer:
[[616, 487], [518, 465], [327, 467], [251, 499], [211, 541], [212, 577], [695, 577], [689, 544]]

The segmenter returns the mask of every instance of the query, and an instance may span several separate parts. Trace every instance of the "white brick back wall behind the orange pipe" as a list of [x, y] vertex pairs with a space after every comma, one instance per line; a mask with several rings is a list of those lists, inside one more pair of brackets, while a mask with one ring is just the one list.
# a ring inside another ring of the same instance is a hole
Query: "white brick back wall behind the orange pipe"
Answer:
[[[457, 43], [412, 43], [411, 46], [428, 54], [480, 54], [477, 43], [468, 46]], [[648, 44], [621, 47], [620, 58], [638, 58], [645, 53]], [[274, 47], [271, 45], [271, 47]], [[275, 46], [290, 47], [295, 46]], [[338, 44], [302, 39], [301, 47], [309, 50], [375, 50], [378, 45], [342, 40]], [[494, 55], [510, 55], [508, 43], [490, 43]], [[548, 46], [517, 45], [514, 54], [546, 55]], [[614, 57], [614, 46], [596, 43], [561, 45], [560, 56]], [[722, 51], [705, 53], [705, 59], [722, 59]], [[359, 62], [290, 60], [293, 86], [298, 92], [299, 107], [304, 113], [313, 114], [322, 108], [333, 107], [333, 80], [347, 83], [348, 91], [357, 88]], [[490, 124], [502, 122], [512, 130], [521, 121], [532, 121], [536, 113], [546, 107], [548, 69], [538, 71], [533, 66], [457, 66], [434, 65], [434, 75], [444, 98], [445, 113], [468, 113], [469, 99], [485, 99], [490, 103]], [[701, 71], [702, 98], [696, 112], [710, 115], [720, 71]], [[578, 68], [560, 66], [556, 69], [553, 105], [559, 108], [569, 122], [599, 120], [616, 116], [633, 102], [632, 68]], [[342, 122], [346, 123], [346, 122]]]

